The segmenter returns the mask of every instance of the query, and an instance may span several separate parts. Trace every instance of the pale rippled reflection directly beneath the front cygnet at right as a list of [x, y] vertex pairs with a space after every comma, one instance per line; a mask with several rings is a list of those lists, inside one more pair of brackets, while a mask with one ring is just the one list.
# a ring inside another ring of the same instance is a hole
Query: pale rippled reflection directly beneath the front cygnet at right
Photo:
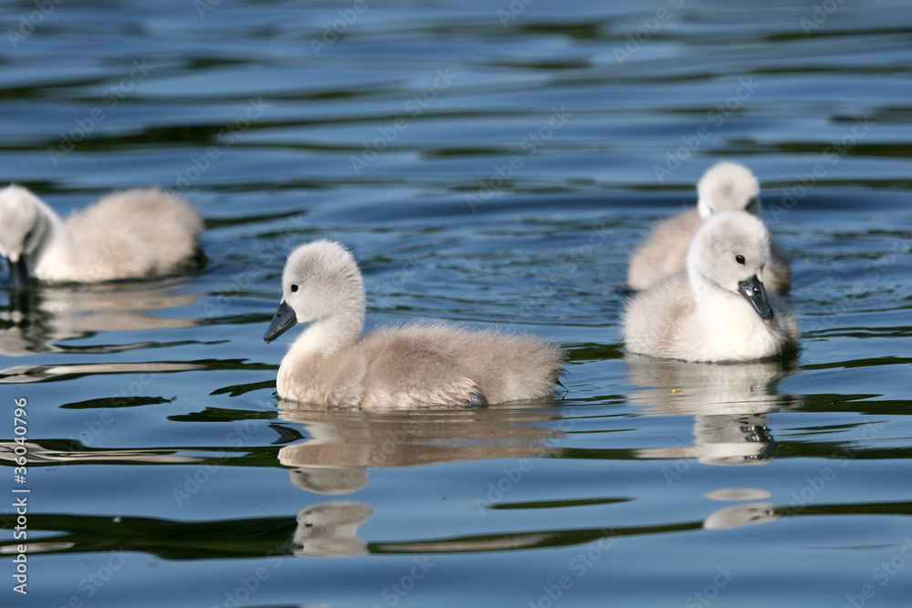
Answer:
[[630, 384], [648, 387], [629, 393], [644, 413], [694, 417], [694, 445], [638, 449], [643, 459], [764, 464], [776, 445], [766, 414], [799, 403], [798, 397], [776, 389], [796, 370], [791, 361], [720, 365], [628, 355], [625, 363]]

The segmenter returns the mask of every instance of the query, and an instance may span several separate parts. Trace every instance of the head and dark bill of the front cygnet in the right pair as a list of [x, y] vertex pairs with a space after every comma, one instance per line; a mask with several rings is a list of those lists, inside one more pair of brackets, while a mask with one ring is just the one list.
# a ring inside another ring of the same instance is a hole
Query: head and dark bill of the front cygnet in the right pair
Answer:
[[763, 321], [772, 321], [772, 307], [763, 287], [763, 267], [770, 259], [770, 232], [746, 211], [713, 213], [690, 243], [687, 269], [700, 299], [707, 284], [741, 294]]

